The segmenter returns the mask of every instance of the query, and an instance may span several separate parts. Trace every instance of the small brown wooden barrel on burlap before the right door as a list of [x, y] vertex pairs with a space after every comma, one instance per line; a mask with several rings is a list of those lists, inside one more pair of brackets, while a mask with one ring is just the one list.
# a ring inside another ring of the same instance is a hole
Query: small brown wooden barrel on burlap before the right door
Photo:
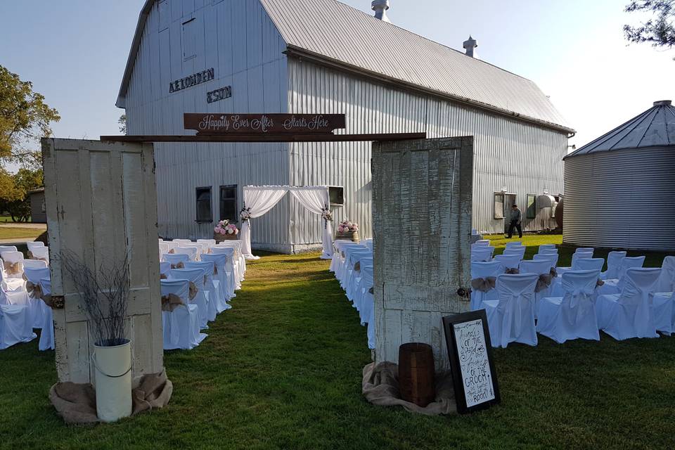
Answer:
[[434, 352], [430, 345], [409, 342], [399, 347], [401, 399], [427, 406], [436, 398]]

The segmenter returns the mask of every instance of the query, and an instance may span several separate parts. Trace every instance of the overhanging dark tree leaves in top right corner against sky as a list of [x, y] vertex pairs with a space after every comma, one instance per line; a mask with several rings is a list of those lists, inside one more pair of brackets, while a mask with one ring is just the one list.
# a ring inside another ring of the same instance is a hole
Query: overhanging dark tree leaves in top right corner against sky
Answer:
[[655, 18], [641, 25], [624, 25], [629, 42], [649, 42], [655, 47], [671, 49], [675, 46], [675, 0], [634, 0], [626, 6], [626, 13], [652, 13]]

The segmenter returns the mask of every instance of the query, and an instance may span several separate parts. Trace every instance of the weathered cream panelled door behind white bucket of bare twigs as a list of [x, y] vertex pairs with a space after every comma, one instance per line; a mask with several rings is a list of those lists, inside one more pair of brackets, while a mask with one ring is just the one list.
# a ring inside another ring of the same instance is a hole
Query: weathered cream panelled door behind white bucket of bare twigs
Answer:
[[94, 338], [58, 255], [68, 249], [92, 271], [129, 254], [127, 337], [133, 375], [162, 370], [162, 311], [153, 146], [43, 139], [44, 184], [60, 381], [94, 380]]

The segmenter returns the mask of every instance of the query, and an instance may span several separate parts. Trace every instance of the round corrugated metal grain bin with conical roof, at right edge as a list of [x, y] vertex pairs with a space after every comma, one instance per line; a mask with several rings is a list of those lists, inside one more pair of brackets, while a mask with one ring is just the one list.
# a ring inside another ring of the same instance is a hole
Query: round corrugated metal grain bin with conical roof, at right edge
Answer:
[[565, 157], [563, 242], [675, 250], [675, 107], [652, 108]]

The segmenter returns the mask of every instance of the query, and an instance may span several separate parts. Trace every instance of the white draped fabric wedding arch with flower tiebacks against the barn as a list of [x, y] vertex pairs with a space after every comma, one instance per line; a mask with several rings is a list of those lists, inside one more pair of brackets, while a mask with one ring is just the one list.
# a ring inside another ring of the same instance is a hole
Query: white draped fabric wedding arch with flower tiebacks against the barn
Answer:
[[[244, 207], [250, 209], [251, 219], [260, 217], [274, 205], [279, 203], [285, 193], [290, 191], [293, 197], [310, 212], [323, 214], [323, 210], [330, 205], [328, 186], [244, 186]], [[243, 222], [241, 226], [242, 252], [246, 259], [258, 259], [251, 252], [251, 226], [250, 220]], [[333, 257], [333, 226], [330, 221], [323, 221], [323, 233], [321, 236], [323, 253], [321, 259]]]

